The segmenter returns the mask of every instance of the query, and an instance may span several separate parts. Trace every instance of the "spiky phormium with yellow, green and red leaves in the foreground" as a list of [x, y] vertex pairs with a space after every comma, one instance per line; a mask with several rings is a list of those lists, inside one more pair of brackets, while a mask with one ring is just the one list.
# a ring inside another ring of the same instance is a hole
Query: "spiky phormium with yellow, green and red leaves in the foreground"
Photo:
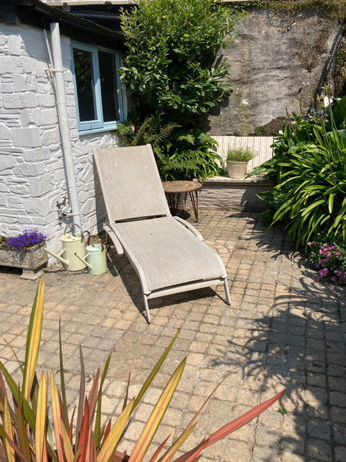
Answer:
[[[138, 396], [128, 399], [129, 384], [124, 397], [122, 413], [116, 418], [113, 427], [111, 420], [107, 425], [101, 426], [101, 408], [102, 408], [102, 386], [107, 375], [109, 355], [104, 370], [100, 374], [100, 368], [95, 373], [93, 385], [89, 396], [85, 393], [85, 376], [84, 360], [82, 348], [80, 347], [80, 396], [78, 403], [78, 412], [75, 421], [75, 409], [69, 420], [68, 407], [66, 400], [66, 388], [64, 379], [64, 364], [62, 359], [62, 341], [60, 336], [60, 381], [61, 392], [58, 390], [55, 382], [55, 375], [51, 371], [51, 409], [53, 411], [53, 425], [48, 420], [48, 373], [42, 373], [38, 380], [35, 369], [37, 366], [37, 357], [39, 354], [39, 343], [42, 332], [44, 308], [44, 281], [39, 281], [37, 293], [33, 304], [33, 310], [30, 316], [28, 326], [28, 336], [26, 339], [26, 357], [24, 364], [19, 362], [21, 373], [23, 374], [23, 384], [21, 387], [17, 384], [14, 377], [11, 376], [6, 366], [0, 361], [0, 416], [2, 423], [0, 425], [0, 461], [1, 462], [141, 462], [145, 454], [150, 450], [150, 445], [161, 423], [161, 420], [167, 410], [170, 400], [176, 390], [179, 380], [183, 373], [186, 358], [176, 367], [176, 370], [168, 380], [161, 397], [154, 406], [147, 423], [143, 427], [138, 440], [134, 445], [131, 454], [125, 455], [116, 450], [120, 438], [126, 432], [127, 425], [131, 414], [136, 409], [145, 391], [154, 380], [154, 377], [161, 368], [167, 357], [174, 340], [179, 331], [167, 346], [165, 352], [158, 359], [152, 372], [140, 389]], [[12, 348], [12, 347], [10, 347]], [[13, 351], [13, 349], [12, 349]], [[14, 352], [13, 352], [14, 353]], [[17, 358], [17, 355], [16, 355]], [[19, 359], [17, 358], [19, 361]], [[5, 380], [8, 389], [12, 394], [13, 407], [10, 406], [10, 397], [6, 389]], [[223, 382], [222, 380], [221, 382]], [[219, 387], [219, 385], [217, 386]], [[215, 390], [214, 390], [215, 391]], [[214, 392], [213, 392], [214, 393]], [[275, 401], [277, 401], [284, 391], [278, 393], [273, 398], [267, 400], [251, 411], [246, 412], [228, 423], [217, 432], [203, 438], [201, 443], [192, 450], [185, 452], [181, 456], [176, 456], [176, 452], [181, 450], [181, 446], [188, 439], [197, 425], [197, 417], [204, 405], [192, 418], [189, 425], [183, 430], [181, 435], [176, 438], [174, 443], [166, 446], [167, 438], [158, 447], [158, 450], [152, 455], [150, 462], [193, 462], [197, 461], [201, 452], [210, 445], [217, 443], [225, 436], [235, 432], [253, 418], [262, 414]], [[75, 422], [75, 424], [74, 424]], [[54, 436], [53, 436], [54, 434]], [[161, 454], [162, 452], [162, 454]]]

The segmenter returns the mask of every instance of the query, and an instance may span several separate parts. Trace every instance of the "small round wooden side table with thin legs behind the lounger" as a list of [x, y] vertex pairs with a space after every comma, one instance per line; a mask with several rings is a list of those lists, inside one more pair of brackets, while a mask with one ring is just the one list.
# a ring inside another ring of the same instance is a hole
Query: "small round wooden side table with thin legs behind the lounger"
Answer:
[[[163, 190], [165, 191], [167, 202], [168, 202], [168, 205], [170, 206], [170, 211], [172, 215], [176, 215], [180, 195], [187, 194], [187, 193], [190, 194], [192, 208], [194, 211], [194, 217], [196, 218], [196, 222], [198, 223], [197, 192], [201, 189], [203, 185], [199, 183], [199, 181], [181, 180], [181, 181], [163, 181], [162, 186], [163, 186]], [[196, 195], [196, 199], [194, 198], [194, 193]]]

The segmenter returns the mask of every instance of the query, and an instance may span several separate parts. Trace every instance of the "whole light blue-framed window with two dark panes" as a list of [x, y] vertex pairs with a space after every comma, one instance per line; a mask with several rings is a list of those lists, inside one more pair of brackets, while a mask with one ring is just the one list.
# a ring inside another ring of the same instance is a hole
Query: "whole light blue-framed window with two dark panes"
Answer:
[[71, 43], [71, 71], [80, 134], [115, 130], [122, 122], [122, 93], [117, 51]]

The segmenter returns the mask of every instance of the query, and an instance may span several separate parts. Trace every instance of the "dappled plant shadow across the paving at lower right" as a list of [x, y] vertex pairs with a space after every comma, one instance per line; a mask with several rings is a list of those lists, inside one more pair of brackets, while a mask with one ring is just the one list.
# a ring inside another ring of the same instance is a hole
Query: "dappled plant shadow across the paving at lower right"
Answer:
[[[325, 285], [320, 292], [313, 281], [299, 282], [301, 288], [276, 296], [272, 314], [243, 319], [242, 328], [230, 335], [226, 359], [215, 359], [213, 366], [240, 372], [243, 380], [255, 377], [261, 384], [261, 402], [286, 388], [282, 406], [293, 425], [289, 432], [267, 429], [273, 447], [306, 457], [299, 460], [339, 462], [346, 460], [344, 448], [338, 446], [346, 441], [345, 339], [340, 324], [340, 303], [344, 306], [345, 301], [336, 298], [338, 287]], [[265, 425], [265, 415], [261, 420]], [[266, 460], [273, 462], [271, 457]]]

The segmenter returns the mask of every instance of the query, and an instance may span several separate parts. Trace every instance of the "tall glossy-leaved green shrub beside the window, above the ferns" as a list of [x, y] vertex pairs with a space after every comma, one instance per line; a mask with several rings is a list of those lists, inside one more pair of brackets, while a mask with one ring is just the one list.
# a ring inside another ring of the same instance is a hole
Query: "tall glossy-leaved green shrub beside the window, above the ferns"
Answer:
[[214, 0], [139, 0], [123, 11], [127, 53], [119, 72], [138, 109], [163, 110], [176, 121], [221, 103], [230, 94], [229, 66], [212, 62], [232, 42], [239, 17]]

